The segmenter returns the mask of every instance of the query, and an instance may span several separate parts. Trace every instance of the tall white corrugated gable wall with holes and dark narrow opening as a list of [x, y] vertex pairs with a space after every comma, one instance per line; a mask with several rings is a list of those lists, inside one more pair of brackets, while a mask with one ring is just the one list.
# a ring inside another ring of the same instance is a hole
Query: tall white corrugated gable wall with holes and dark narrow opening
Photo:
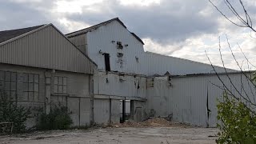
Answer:
[[[143, 45], [130, 31], [126, 30], [119, 22], [110, 22], [86, 34], [88, 42], [88, 54], [98, 64], [99, 70], [105, 70], [104, 55], [110, 54], [110, 67], [113, 71], [142, 74], [142, 59], [144, 57]], [[114, 42], [112, 42], [114, 41]], [[117, 49], [117, 42], [122, 42], [123, 49]], [[125, 46], [125, 45], [128, 46]], [[122, 53], [122, 65], [117, 54]], [[138, 62], [135, 57], [138, 57]]]

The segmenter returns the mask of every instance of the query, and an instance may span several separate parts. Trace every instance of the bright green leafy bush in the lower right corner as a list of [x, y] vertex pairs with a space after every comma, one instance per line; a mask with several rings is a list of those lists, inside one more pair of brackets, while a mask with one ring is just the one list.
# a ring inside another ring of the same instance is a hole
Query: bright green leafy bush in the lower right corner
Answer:
[[256, 143], [256, 117], [243, 102], [223, 94], [223, 101], [218, 101], [217, 143]]

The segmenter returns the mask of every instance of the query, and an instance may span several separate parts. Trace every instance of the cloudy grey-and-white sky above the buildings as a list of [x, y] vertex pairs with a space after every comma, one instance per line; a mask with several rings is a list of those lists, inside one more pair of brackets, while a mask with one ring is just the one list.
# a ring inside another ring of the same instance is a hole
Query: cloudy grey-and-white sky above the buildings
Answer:
[[[237, 1], [231, 2], [242, 12]], [[222, 0], [213, 2], [235, 20]], [[243, 2], [256, 23], [256, 2]], [[227, 36], [239, 64], [248, 67], [238, 45], [256, 65], [256, 36], [251, 38], [250, 30], [226, 21], [208, 0], [0, 0], [0, 30], [53, 23], [66, 34], [116, 17], [142, 38], [146, 51], [209, 63], [206, 51], [215, 65], [222, 66], [220, 36], [225, 65], [238, 69]]]

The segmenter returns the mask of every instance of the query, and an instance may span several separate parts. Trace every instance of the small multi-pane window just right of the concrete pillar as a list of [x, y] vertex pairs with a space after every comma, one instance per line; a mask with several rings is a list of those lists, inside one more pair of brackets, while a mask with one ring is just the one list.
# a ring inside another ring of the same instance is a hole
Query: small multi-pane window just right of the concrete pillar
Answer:
[[67, 94], [67, 78], [66, 77], [54, 77], [54, 93]]

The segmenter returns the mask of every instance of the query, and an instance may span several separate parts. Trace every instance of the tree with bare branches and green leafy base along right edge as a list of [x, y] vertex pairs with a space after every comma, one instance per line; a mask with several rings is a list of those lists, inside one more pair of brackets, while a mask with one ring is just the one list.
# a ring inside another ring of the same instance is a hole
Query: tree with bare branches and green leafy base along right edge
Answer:
[[[229, 0], [223, 0], [226, 8], [230, 10], [234, 18], [237, 18], [238, 22], [235, 22], [234, 20], [231, 20], [231, 18], [227, 17], [226, 14], [224, 14], [222, 10], [220, 10], [218, 6], [214, 4], [214, 2], [212, 2], [211, 0], [208, 0], [208, 1], [229, 22], [233, 23], [235, 26], [248, 28], [249, 30], [251, 30], [252, 33], [256, 33], [256, 30], [253, 27], [253, 22], [242, 0], [239, 0], [238, 2], [240, 6], [242, 6], [243, 14], [239, 14], [238, 10], [234, 8], [234, 5]], [[242, 77], [246, 79], [246, 83], [244, 83], [244, 81], [242, 81], [242, 78], [241, 78], [240, 90], [238, 86], [234, 85], [234, 82], [230, 78], [230, 74], [226, 70], [226, 67], [222, 58], [222, 50], [221, 50], [222, 46], [219, 40], [218, 50], [219, 50], [220, 58], [222, 60], [222, 66], [224, 67], [225, 75], [228, 78], [232, 86], [232, 89], [234, 90], [231, 90], [229, 86], [226, 86], [226, 83], [223, 82], [220, 75], [217, 73], [216, 70], [214, 70], [219, 81], [222, 83], [222, 86], [218, 86], [218, 87], [224, 91], [223, 99], [218, 100], [218, 120], [221, 122], [221, 124], [218, 124], [218, 127], [220, 128], [221, 132], [218, 134], [219, 138], [216, 142], [218, 143], [256, 143], [256, 112], [255, 112], [256, 110], [256, 102], [255, 102], [256, 74], [254, 71], [250, 71], [250, 69], [248, 71], [242, 70], [242, 66], [239, 65], [237, 58], [234, 56], [234, 52], [230, 46], [230, 42], [227, 36], [226, 36], [226, 42], [228, 44], [228, 47], [230, 48], [230, 52], [234, 58], [234, 61], [239, 67]], [[243, 53], [242, 48], [240, 46], [239, 48], [244, 58], [246, 59], [248, 68], [249, 68], [249, 65], [256, 68], [248, 60], [248, 58], [246, 58], [246, 55]], [[211, 66], [214, 69], [214, 66], [210, 61], [210, 58], [208, 57], [207, 54], [206, 56]], [[245, 90], [245, 85], [250, 87], [249, 91]]]

